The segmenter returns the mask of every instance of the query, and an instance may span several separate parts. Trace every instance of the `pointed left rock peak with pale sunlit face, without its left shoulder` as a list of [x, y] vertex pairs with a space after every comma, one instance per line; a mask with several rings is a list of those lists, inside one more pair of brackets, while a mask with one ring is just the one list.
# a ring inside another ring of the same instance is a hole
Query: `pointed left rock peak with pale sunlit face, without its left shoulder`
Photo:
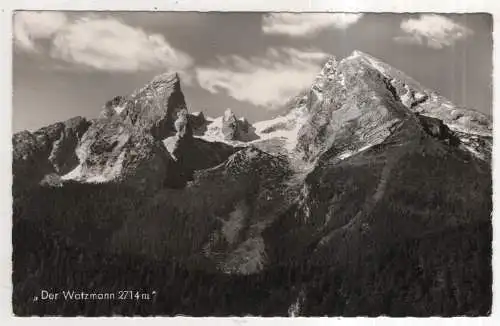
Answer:
[[177, 74], [159, 75], [130, 96], [115, 97], [75, 149], [79, 164], [62, 179], [123, 182], [139, 189], [182, 184], [176, 176], [180, 168], [162, 141], [176, 132], [174, 121], [184, 111]]

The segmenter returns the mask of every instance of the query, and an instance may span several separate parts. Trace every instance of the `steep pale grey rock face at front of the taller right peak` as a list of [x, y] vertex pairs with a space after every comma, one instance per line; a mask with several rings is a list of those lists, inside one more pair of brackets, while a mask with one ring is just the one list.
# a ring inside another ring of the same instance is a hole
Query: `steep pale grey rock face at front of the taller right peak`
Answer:
[[356, 61], [330, 60], [310, 93], [296, 150], [314, 161], [335, 147], [349, 155], [381, 143], [411, 113], [383, 87], [383, 76]]

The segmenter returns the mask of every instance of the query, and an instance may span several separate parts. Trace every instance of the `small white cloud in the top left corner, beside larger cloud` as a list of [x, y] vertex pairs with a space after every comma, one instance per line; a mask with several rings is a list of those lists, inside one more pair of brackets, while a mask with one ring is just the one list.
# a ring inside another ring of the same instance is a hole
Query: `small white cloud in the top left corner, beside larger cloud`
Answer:
[[50, 11], [20, 11], [14, 14], [14, 43], [24, 51], [37, 52], [35, 42], [49, 39], [67, 23], [66, 15]]

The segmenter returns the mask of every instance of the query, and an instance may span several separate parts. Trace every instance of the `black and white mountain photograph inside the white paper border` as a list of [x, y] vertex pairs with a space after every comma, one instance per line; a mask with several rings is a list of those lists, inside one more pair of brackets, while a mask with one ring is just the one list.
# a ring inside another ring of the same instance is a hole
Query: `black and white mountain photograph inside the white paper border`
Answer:
[[492, 313], [491, 14], [11, 23], [13, 315]]

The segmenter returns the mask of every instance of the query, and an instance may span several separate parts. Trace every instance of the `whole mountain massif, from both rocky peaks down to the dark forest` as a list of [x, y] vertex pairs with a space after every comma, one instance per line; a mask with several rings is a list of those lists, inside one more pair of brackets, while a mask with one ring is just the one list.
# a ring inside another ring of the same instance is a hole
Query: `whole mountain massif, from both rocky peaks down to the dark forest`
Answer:
[[[359, 51], [283, 111], [190, 113], [163, 74], [95, 120], [14, 135], [17, 313], [103, 314], [24, 305], [43, 283], [157, 288], [155, 314], [489, 314], [487, 116]], [[80, 283], [58, 267], [75, 254]]]

